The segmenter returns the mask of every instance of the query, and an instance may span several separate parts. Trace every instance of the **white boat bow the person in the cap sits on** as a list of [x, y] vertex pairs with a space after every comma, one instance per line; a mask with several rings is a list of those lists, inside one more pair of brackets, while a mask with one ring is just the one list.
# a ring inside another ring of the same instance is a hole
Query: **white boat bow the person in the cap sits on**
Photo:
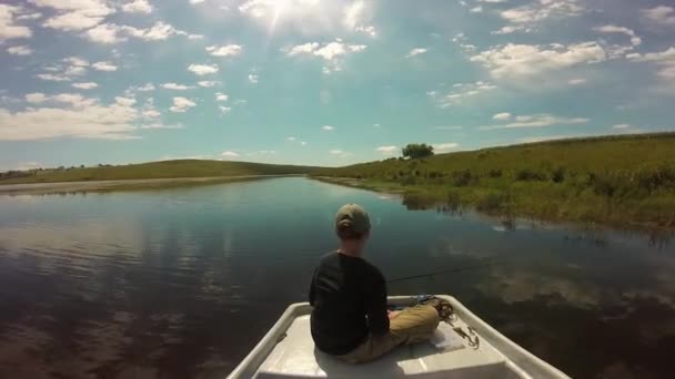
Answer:
[[[535, 357], [452, 296], [437, 295], [454, 308], [432, 341], [401, 346], [364, 365], [350, 365], [314, 348], [308, 303], [291, 305], [272, 329], [230, 373], [230, 379], [255, 378], [568, 378]], [[411, 306], [415, 296], [394, 296], [390, 305]]]

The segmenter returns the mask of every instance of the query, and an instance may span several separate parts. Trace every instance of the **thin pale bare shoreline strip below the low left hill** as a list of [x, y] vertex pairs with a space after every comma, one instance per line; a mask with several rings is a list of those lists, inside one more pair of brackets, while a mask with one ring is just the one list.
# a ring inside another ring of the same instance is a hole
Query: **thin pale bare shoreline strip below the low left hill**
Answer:
[[53, 183], [21, 183], [0, 184], [0, 195], [46, 195], [72, 192], [112, 192], [112, 191], [142, 191], [161, 190], [181, 186], [197, 186], [242, 182], [251, 180], [294, 177], [304, 174], [286, 175], [235, 175], [235, 176], [203, 176], [203, 177], [163, 177], [144, 180], [111, 180], [111, 181], [73, 181]]

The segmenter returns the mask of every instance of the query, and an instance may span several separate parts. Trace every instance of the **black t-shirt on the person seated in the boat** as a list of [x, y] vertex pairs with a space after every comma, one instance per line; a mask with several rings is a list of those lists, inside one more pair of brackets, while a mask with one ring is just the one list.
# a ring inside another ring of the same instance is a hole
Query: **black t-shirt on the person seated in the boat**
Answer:
[[310, 304], [312, 338], [324, 352], [344, 355], [369, 334], [389, 331], [384, 277], [363, 258], [324, 255], [314, 270]]

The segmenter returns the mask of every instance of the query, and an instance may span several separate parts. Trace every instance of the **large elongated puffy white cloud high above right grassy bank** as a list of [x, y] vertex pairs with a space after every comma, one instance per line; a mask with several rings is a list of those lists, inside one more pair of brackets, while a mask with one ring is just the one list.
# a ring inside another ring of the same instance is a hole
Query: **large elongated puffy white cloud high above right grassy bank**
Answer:
[[496, 47], [471, 57], [482, 64], [495, 79], [534, 76], [548, 71], [606, 60], [603, 48], [596, 42], [548, 47], [513, 44]]

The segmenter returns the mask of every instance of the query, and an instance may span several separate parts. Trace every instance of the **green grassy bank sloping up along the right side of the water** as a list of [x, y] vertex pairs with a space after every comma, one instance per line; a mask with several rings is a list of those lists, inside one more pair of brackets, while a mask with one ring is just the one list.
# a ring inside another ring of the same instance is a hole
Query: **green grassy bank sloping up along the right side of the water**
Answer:
[[412, 207], [472, 206], [497, 215], [675, 228], [675, 133], [390, 158], [313, 175], [401, 192]]

